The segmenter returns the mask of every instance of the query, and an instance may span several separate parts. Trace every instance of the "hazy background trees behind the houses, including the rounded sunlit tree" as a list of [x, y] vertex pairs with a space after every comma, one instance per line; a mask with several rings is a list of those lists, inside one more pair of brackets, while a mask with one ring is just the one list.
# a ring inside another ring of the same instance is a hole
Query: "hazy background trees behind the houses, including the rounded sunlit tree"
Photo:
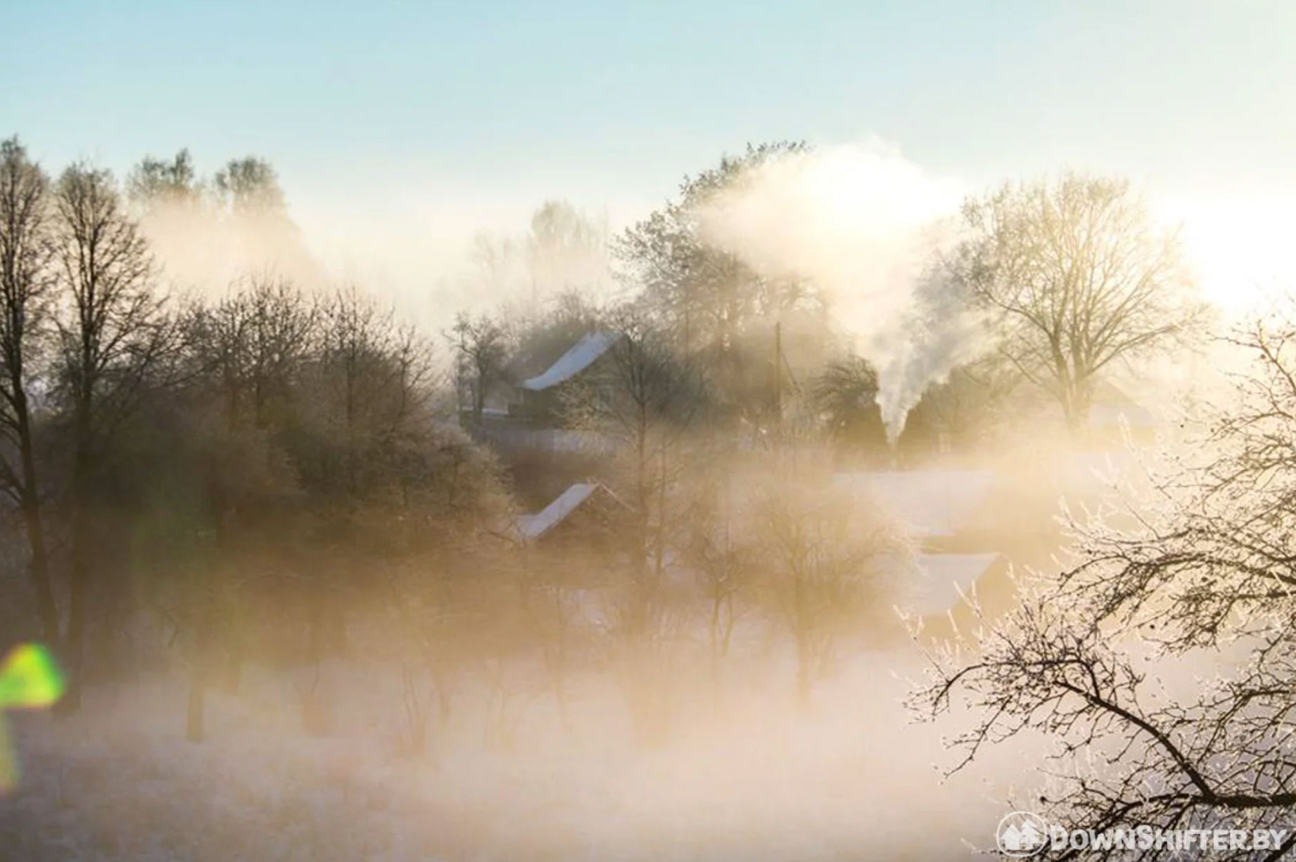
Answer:
[[[898, 326], [910, 331], [883, 333], [886, 349], [870, 349], [837, 316], [840, 285], [829, 290], [810, 267], [770, 274], [702, 224], [701, 214], [763, 170], [814, 155], [802, 142], [748, 146], [687, 176], [673, 201], [618, 236], [547, 204], [521, 239], [480, 241], [483, 283], [499, 287], [513, 261], [520, 282], [556, 300], [460, 316], [461, 400], [478, 417], [494, 386], [543, 369], [581, 333], [632, 330], [705, 379], [710, 421], [734, 434], [828, 440], [857, 465], [918, 462], [1002, 441], [1042, 410], [1080, 440], [1104, 381], [1203, 334], [1207, 308], [1174, 227], [1155, 223], [1122, 179], [1063, 173], [973, 195], [937, 225], [933, 234], [953, 239], [919, 250], [916, 286], [894, 285], [912, 291], [912, 315]], [[582, 291], [594, 277], [555, 278], [537, 260], [601, 267], [619, 290], [595, 302]], [[971, 346], [936, 343], [945, 334], [933, 318], [942, 317], [966, 318], [958, 334]], [[875, 366], [880, 355], [888, 368]], [[919, 383], [894, 448], [877, 404], [880, 371]]]

